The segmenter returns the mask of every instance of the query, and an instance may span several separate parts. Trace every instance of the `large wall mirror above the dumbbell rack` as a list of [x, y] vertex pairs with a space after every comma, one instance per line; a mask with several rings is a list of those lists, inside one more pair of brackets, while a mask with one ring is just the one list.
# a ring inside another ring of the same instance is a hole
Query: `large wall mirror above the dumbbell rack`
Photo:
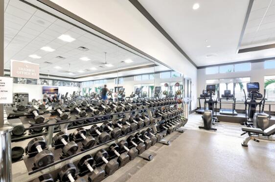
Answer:
[[[52, 11], [51, 11], [52, 12]], [[175, 97], [188, 102], [191, 80], [124, 45], [19, 0], [5, 0], [4, 69], [12, 60], [39, 65], [39, 78], [14, 77], [13, 92], [43, 99], [43, 86], [58, 94], [100, 97]], [[104, 38], [102, 38], [104, 37]]]

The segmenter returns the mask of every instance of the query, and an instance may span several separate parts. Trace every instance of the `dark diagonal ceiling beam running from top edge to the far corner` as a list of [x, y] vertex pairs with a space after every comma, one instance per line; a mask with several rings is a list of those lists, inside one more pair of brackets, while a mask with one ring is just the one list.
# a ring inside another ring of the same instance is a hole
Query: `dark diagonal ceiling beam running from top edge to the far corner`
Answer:
[[174, 45], [183, 56], [197, 68], [197, 65], [191, 60], [191, 58], [183, 51], [183, 49], [170, 37], [170, 35], [160, 26], [160, 24], [150, 15], [150, 13], [138, 2], [138, 0], [129, 0], [138, 11], [150, 22], [152, 23], [160, 33], [172, 44]]

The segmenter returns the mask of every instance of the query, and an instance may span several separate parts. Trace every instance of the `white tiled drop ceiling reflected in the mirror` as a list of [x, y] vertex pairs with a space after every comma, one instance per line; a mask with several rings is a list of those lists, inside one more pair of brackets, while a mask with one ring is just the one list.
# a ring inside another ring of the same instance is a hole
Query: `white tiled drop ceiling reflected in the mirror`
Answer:
[[[69, 35], [76, 40], [71, 43], [64, 42], [58, 39], [62, 34]], [[47, 52], [41, 50], [40, 48], [44, 46], [49, 46], [55, 51]], [[90, 50], [78, 50], [79, 46], [87, 47]], [[106, 67], [102, 64], [105, 62], [104, 52], [107, 52], [107, 63], [112, 64], [114, 67]], [[29, 57], [29, 55], [38, 55], [41, 58], [34, 59]], [[56, 58], [57, 56], [62, 56], [66, 59]], [[87, 57], [91, 60], [82, 61], [80, 60], [82, 57]], [[55, 18], [20, 0], [5, 0], [5, 69], [10, 68], [11, 59], [39, 64], [41, 73], [67, 77], [79, 77], [112, 71], [117, 68], [122, 69], [153, 64], [143, 57]], [[127, 59], [131, 59], [133, 63], [120, 63]], [[100, 66], [103, 68], [100, 68]], [[61, 67], [61, 69], [55, 69], [54, 67]], [[160, 67], [158, 68], [159, 70], [168, 69], [163, 66]], [[90, 68], [97, 68], [97, 70], [91, 70]], [[154, 68], [145, 70], [153, 72]], [[73, 74], [69, 75], [68, 71]], [[141, 72], [144, 73], [144, 71]], [[122, 75], [133, 74], [133, 72], [135, 71], [128, 71], [122, 73]]]

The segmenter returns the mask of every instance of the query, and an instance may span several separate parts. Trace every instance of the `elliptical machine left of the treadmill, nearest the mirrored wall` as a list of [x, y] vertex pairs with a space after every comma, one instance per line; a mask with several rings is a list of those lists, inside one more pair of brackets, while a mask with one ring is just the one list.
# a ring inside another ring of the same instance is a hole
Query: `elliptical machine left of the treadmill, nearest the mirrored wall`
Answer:
[[[199, 129], [213, 130], [213, 131], [217, 130], [216, 128], [212, 128], [212, 125], [214, 125], [215, 122], [220, 122], [216, 117], [219, 93], [217, 94], [216, 100], [212, 99], [212, 95], [215, 95], [215, 91], [216, 91], [216, 85], [206, 85], [206, 92], [207, 94], [209, 94], [210, 98], [206, 100], [206, 95], [205, 95], [205, 108], [206, 108], [206, 105], [208, 105], [208, 110], [205, 110], [203, 113], [202, 118], [204, 121], [204, 126], [199, 126]], [[214, 107], [215, 107], [215, 115], [213, 115]]]

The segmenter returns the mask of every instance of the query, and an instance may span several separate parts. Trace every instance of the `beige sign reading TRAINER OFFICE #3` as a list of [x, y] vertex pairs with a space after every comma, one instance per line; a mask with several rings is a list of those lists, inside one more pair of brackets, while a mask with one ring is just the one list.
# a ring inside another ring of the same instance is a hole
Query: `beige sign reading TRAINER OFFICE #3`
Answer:
[[39, 79], [38, 64], [11, 60], [10, 69], [11, 77]]

